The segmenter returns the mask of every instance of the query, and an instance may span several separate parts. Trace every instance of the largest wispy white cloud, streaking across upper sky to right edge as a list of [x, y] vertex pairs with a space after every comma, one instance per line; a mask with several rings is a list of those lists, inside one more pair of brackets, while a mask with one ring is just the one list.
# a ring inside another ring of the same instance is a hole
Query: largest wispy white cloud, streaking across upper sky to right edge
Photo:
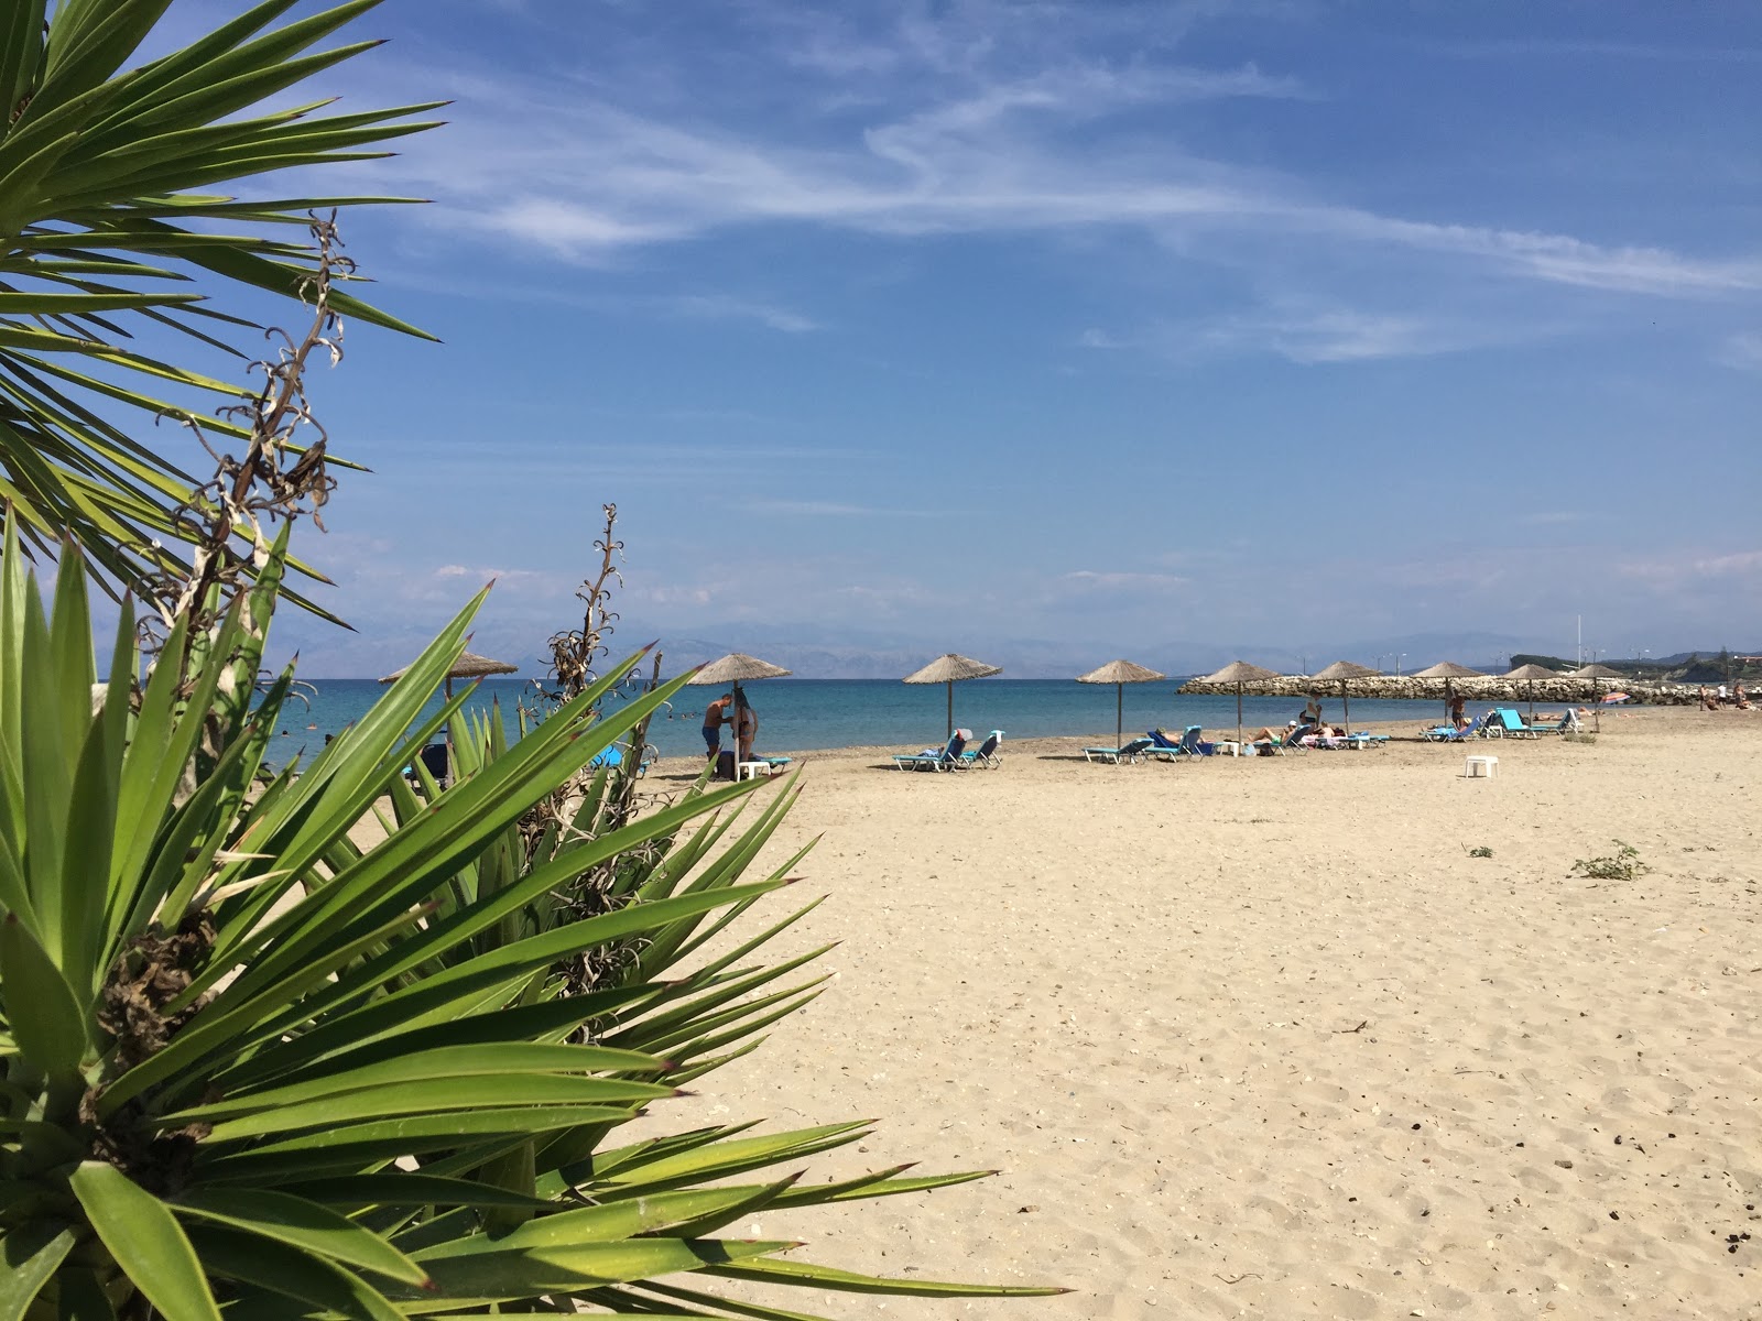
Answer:
[[[1052, 7], [1047, 21], [1075, 19]], [[414, 141], [389, 169], [442, 199], [426, 217], [433, 224], [589, 262], [765, 224], [902, 236], [1121, 227], [1177, 240], [1200, 257], [1207, 241], [1304, 240], [1628, 294], [1762, 289], [1757, 254], [1700, 257], [1385, 215], [1316, 197], [1290, 176], [1196, 155], [1179, 137], [1142, 134], [1145, 107], [1307, 95], [1295, 79], [1253, 65], [1119, 63], [1061, 53], [1055, 37], [1004, 58], [996, 41], [907, 19], [892, 32], [819, 32], [805, 49], [781, 48], [772, 56], [779, 65], [807, 60], [828, 77], [858, 67], [874, 83], [867, 113], [805, 122], [717, 116], [715, 88], [703, 100], [645, 104], [532, 74], [516, 123], [499, 88], [485, 85], [479, 95], [465, 77], [460, 122]], [[710, 296], [707, 306], [717, 305]], [[812, 329], [800, 314], [768, 315], [740, 299], [719, 312], [742, 314], [784, 331]]]

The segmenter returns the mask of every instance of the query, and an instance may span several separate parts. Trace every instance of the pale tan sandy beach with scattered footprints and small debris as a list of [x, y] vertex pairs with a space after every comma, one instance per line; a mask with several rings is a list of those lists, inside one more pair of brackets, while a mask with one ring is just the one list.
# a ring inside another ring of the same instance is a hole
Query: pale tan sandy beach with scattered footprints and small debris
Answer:
[[[779, 949], [842, 941], [833, 979], [655, 1122], [879, 1117], [811, 1178], [1003, 1173], [742, 1229], [1075, 1289], [802, 1310], [1762, 1317], [1762, 713], [1602, 727], [1117, 768], [1045, 740], [959, 775], [811, 754], [770, 856], [825, 842], [770, 911], [830, 895]], [[1612, 840], [1651, 870], [1573, 874]]]

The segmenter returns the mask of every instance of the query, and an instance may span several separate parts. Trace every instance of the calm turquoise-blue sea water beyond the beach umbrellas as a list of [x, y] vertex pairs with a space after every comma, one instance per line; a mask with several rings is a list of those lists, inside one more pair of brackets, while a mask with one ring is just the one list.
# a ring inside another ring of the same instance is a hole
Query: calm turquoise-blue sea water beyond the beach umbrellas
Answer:
[[[310, 756], [324, 743], [324, 734], [340, 733], [359, 720], [368, 706], [386, 694], [372, 680], [317, 680], [310, 706], [289, 703], [282, 712], [271, 761], [282, 764], [298, 754]], [[1177, 682], [1128, 683], [1124, 692], [1126, 738], [1163, 726], [1181, 731], [1189, 724], [1209, 733], [1235, 729], [1235, 696], [1177, 696]], [[470, 697], [470, 708], [488, 710], [499, 699], [504, 720], [513, 731], [513, 710], [523, 692], [520, 680], [485, 680]], [[941, 685], [911, 685], [892, 680], [811, 680], [779, 678], [745, 687], [752, 710], [759, 715], [758, 749], [761, 752], [807, 752], [833, 747], [897, 747], [916, 750], [941, 743], [946, 727], [946, 690]], [[648, 726], [648, 742], [661, 756], [675, 757], [703, 752], [698, 729], [712, 689], [685, 689], [673, 710], [663, 710]], [[435, 699], [430, 710], [439, 710]], [[1304, 706], [1302, 697], [1244, 697], [1242, 720], [1249, 729], [1281, 726]], [[1443, 705], [1436, 701], [1353, 701], [1351, 722], [1403, 720], [1415, 727], [1436, 722]], [[1339, 724], [1339, 697], [1323, 701], [1323, 717]], [[980, 736], [1003, 729], [1008, 738], [1048, 738], [1068, 734], [1092, 740], [1114, 738], [1114, 689], [1071, 680], [985, 678], [955, 685], [955, 724]]]

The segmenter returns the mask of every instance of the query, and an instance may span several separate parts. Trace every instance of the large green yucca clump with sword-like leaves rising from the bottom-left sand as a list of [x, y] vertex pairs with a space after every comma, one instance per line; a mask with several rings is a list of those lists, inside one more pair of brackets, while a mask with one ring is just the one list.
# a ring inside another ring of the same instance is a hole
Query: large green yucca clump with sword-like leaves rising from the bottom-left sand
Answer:
[[[9, 527], [0, 1317], [802, 1316], [722, 1302], [717, 1279], [1034, 1293], [719, 1236], [761, 1208], [974, 1177], [796, 1182], [862, 1124], [613, 1141], [812, 993], [777, 988], [805, 960], [747, 962], [791, 918], [705, 948], [788, 881], [795, 860], [744, 870], [793, 787], [747, 824], [751, 784], [606, 833], [589, 789], [516, 852], [509, 828], [671, 696], [594, 720], [618, 666], [520, 742], [469, 743], [444, 793], [412, 793], [402, 768], [458, 719], [463, 694], [419, 713], [478, 602], [310, 766], [271, 775], [291, 673], [254, 708], [226, 694], [261, 657], [282, 553], [208, 645], [167, 639], [187, 673], [139, 673], [125, 608], [99, 685], [79, 555], [63, 550], [46, 613]], [[226, 738], [190, 791], [204, 717]], [[386, 794], [389, 835], [361, 851], [349, 831]], [[631, 856], [650, 861], [620, 868]], [[613, 877], [601, 912], [553, 900], [596, 868]], [[631, 958], [583, 992], [567, 960], [611, 946]]]

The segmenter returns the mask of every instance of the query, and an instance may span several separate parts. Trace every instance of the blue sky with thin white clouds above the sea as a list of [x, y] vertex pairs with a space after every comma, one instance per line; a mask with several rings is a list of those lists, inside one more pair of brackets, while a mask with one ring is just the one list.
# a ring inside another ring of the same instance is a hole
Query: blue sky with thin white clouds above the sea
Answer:
[[478, 650], [537, 655], [606, 500], [633, 645], [1762, 646], [1762, 7], [356, 26], [322, 90], [455, 100], [328, 185], [433, 199], [345, 232], [444, 343], [314, 382], [375, 472], [305, 541], [359, 629], [284, 616], [308, 675], [492, 576]]

